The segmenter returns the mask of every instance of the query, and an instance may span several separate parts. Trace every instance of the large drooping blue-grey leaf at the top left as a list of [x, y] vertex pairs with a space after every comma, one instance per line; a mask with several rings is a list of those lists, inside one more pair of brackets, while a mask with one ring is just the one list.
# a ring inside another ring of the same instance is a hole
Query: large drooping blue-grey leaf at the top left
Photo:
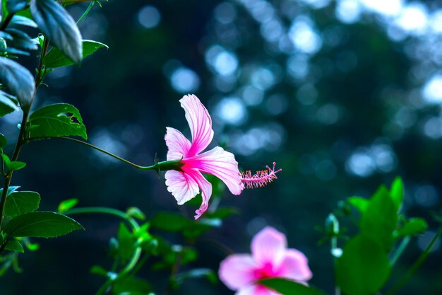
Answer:
[[79, 64], [83, 56], [82, 37], [68, 11], [54, 0], [30, 0], [30, 13], [49, 41]]

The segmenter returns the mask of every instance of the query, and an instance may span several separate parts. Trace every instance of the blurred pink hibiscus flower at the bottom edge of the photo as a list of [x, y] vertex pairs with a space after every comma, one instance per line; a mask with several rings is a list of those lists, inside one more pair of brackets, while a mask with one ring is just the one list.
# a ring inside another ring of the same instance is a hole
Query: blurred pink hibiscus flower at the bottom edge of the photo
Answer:
[[260, 279], [281, 277], [306, 284], [311, 279], [311, 271], [306, 256], [296, 249], [287, 249], [284, 234], [266, 227], [251, 241], [251, 255], [229, 255], [221, 262], [221, 281], [235, 295], [277, 295], [256, 282]]

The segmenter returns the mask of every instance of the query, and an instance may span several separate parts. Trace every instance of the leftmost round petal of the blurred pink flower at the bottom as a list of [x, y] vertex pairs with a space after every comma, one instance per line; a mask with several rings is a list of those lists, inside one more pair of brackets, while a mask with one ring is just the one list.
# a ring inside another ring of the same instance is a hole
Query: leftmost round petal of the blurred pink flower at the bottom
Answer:
[[237, 290], [249, 286], [256, 280], [257, 267], [251, 255], [234, 254], [222, 260], [218, 274], [227, 287]]

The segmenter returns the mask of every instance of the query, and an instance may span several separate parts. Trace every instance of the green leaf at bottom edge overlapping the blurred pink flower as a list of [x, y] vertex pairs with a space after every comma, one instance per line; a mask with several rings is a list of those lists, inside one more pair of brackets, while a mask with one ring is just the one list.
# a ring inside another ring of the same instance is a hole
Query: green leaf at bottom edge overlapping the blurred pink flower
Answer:
[[275, 291], [284, 295], [325, 295], [325, 293], [319, 291], [318, 289], [306, 287], [303, 284], [290, 281], [289, 279], [262, 279], [259, 284], [274, 289]]

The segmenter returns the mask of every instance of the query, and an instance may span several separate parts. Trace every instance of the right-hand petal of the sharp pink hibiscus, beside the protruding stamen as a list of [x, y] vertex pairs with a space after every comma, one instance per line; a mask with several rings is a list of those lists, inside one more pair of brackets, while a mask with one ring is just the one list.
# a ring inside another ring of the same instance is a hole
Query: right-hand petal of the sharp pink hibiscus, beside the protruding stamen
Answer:
[[235, 156], [220, 146], [216, 146], [201, 155], [186, 159], [186, 163], [189, 163], [193, 168], [198, 168], [203, 173], [209, 173], [220, 178], [233, 195], [239, 195], [244, 190]]

